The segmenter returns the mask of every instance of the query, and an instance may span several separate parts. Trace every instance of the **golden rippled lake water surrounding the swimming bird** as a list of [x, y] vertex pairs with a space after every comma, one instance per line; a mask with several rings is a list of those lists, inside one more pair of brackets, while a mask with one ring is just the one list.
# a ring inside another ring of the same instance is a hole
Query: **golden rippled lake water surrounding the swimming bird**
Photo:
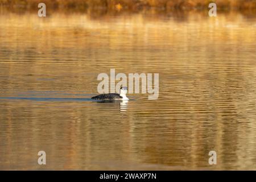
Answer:
[[[3, 13], [0, 27], [0, 169], [256, 169], [255, 18]], [[158, 100], [91, 100], [110, 68], [159, 73]]]

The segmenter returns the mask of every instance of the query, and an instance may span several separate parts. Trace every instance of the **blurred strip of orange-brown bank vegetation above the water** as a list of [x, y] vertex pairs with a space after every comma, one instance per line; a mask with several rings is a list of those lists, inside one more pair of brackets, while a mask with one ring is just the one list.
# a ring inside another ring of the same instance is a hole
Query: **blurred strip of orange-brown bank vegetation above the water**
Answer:
[[[31, 7], [40, 2], [47, 4], [51, 9], [126, 9], [136, 11], [151, 7], [160, 9], [207, 9], [209, 3], [214, 2], [218, 8], [225, 10], [252, 10], [256, 7], [255, 0], [1, 0], [3, 6]], [[117, 6], [118, 5], [118, 6]]]

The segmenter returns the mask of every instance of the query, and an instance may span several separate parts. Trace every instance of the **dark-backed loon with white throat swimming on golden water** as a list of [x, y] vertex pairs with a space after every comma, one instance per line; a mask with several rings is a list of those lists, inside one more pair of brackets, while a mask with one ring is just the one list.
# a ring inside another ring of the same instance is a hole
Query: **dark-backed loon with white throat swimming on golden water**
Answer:
[[129, 98], [126, 97], [127, 87], [123, 86], [120, 88], [120, 94], [117, 93], [108, 93], [100, 94], [98, 96], [92, 97], [92, 99], [101, 100], [101, 101], [127, 101]]

